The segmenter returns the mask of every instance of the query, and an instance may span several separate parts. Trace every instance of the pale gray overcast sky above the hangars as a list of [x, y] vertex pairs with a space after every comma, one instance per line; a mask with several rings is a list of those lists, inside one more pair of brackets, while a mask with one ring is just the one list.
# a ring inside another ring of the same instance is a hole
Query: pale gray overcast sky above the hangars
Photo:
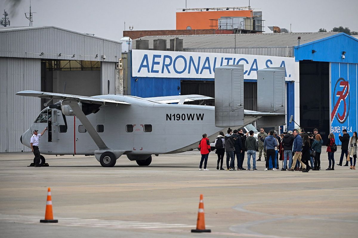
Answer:
[[[6, 9], [11, 26], [28, 26], [24, 12], [29, 0], [0, 0], [0, 14]], [[248, 0], [187, 0], [187, 8], [248, 6]], [[220, 2], [220, 3], [219, 3]], [[175, 29], [175, 12], [185, 8], [185, 0], [32, 0], [33, 26], [57, 26], [91, 33], [111, 40], [126, 30]], [[262, 11], [265, 26], [279, 26], [292, 32], [327, 31], [336, 26], [358, 31], [357, 0], [251, 0], [256, 11]], [[1, 15], [3, 17], [3, 15]], [[271, 32], [265, 27], [266, 33]]]

